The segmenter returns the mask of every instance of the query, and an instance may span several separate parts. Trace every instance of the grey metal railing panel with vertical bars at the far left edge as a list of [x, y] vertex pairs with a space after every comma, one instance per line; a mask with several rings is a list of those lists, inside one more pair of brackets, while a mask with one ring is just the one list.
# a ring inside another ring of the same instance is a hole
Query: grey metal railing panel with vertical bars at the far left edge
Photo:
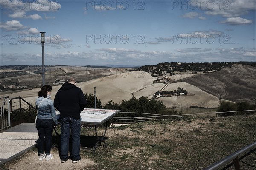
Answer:
[[0, 98], [0, 106], [0, 130], [3, 130], [11, 126], [9, 96]]

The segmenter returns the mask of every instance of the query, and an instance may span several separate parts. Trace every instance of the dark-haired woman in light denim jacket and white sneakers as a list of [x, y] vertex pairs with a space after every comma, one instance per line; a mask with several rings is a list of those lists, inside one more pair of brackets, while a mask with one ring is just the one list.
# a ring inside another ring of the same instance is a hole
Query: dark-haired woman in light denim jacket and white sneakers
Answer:
[[50, 85], [44, 85], [41, 90], [38, 91], [38, 98], [35, 102], [36, 108], [38, 108], [37, 119], [35, 122], [35, 127], [38, 130], [39, 136], [38, 156], [39, 160], [45, 158], [46, 161], [53, 158], [50, 153], [52, 147], [52, 132], [53, 128], [58, 125], [53, 101], [50, 96], [51, 94], [52, 87]]

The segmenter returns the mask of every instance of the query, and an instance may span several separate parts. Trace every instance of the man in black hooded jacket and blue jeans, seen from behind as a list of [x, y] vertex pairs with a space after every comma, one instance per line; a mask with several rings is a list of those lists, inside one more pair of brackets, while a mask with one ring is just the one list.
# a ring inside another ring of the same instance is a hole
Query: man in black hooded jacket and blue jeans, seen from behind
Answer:
[[[80, 156], [80, 112], [86, 106], [86, 99], [81, 88], [76, 87], [76, 80], [71, 78], [58, 90], [54, 98], [54, 107], [60, 111], [61, 125], [61, 162], [65, 163], [71, 158], [72, 163], [81, 161]], [[72, 134], [72, 150], [70, 157], [69, 136]]]

